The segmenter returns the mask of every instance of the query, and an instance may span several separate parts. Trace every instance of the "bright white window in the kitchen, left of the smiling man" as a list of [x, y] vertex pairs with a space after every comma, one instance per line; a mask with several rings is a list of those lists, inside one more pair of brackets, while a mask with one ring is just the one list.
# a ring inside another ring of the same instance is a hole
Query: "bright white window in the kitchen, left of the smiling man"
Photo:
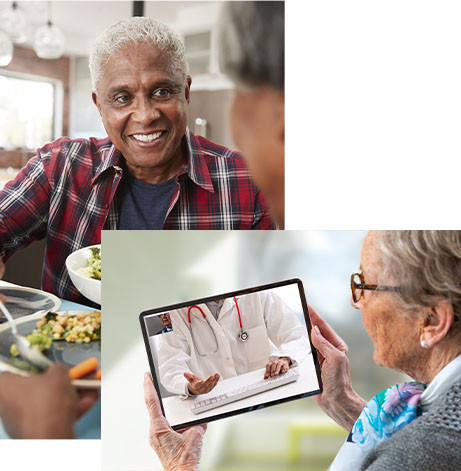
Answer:
[[54, 138], [58, 84], [0, 75], [0, 147], [35, 150]]

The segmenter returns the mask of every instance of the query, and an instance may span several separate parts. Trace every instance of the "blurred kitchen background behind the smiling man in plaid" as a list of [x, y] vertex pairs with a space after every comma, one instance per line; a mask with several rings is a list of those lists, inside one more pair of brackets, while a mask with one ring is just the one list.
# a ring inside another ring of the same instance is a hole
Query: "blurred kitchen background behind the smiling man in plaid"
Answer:
[[[214, 1], [0, 1], [0, 188], [47, 142], [106, 136], [91, 100], [90, 47], [106, 27], [142, 12], [172, 26], [184, 40], [192, 76], [189, 128], [235, 149], [228, 124], [233, 84], [220, 73], [217, 57], [221, 6]], [[44, 245], [35, 242], [15, 254], [4, 279], [39, 288]]]

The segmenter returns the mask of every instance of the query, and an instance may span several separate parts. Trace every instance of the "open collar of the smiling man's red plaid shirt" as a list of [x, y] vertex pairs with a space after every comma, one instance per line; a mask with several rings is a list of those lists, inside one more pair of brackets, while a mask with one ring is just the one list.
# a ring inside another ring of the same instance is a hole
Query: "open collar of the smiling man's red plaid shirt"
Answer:
[[[182, 138], [182, 147], [185, 155], [184, 163], [179, 169], [178, 178], [181, 175], [187, 175], [196, 185], [202, 187], [204, 190], [214, 193], [213, 182], [211, 181], [210, 172], [206, 165], [205, 154], [200, 145], [199, 139], [194, 136], [189, 128]], [[107, 143], [98, 149], [101, 156], [101, 163], [96, 169], [95, 175], [92, 179], [94, 184], [96, 180], [109, 168], [121, 170], [123, 163], [123, 156], [121, 152], [115, 148], [110, 139]]]

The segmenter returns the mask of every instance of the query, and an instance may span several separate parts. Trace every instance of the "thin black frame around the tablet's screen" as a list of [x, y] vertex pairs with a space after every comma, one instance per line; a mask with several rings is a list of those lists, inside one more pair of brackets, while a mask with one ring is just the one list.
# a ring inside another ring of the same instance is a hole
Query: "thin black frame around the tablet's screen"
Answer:
[[[149, 361], [152, 380], [153, 380], [155, 389], [157, 391], [157, 395], [158, 395], [159, 400], [160, 400], [160, 407], [162, 409], [162, 414], [164, 416], [165, 416], [165, 409], [163, 408], [163, 401], [162, 401], [162, 397], [160, 395], [159, 380], [157, 378], [157, 373], [155, 371], [154, 359], [153, 359], [151, 348], [150, 348], [149, 336], [147, 334], [147, 328], [146, 328], [146, 323], [144, 321], [144, 318], [147, 317], [147, 316], [151, 316], [153, 314], [161, 314], [162, 312], [165, 312], [165, 311], [173, 311], [173, 310], [188, 307], [188, 306], [191, 306], [191, 305], [194, 305], [194, 304], [206, 303], [206, 302], [209, 302], [209, 301], [213, 301], [215, 299], [231, 298], [233, 296], [241, 296], [241, 295], [244, 295], [244, 294], [251, 294], [251, 293], [258, 292], [258, 291], [266, 291], [266, 290], [269, 290], [269, 289], [280, 288], [282, 286], [288, 286], [288, 285], [292, 285], [292, 284], [297, 284], [298, 285], [298, 292], [299, 292], [299, 295], [300, 295], [300, 298], [301, 298], [301, 305], [302, 305], [303, 312], [304, 312], [304, 320], [306, 322], [308, 338], [309, 338], [309, 343], [310, 343], [310, 346], [311, 346], [312, 358], [314, 360], [315, 371], [316, 371], [316, 374], [317, 374], [317, 382], [319, 384], [319, 389], [316, 389], [314, 391], [310, 391], [310, 392], [307, 392], [307, 393], [296, 394], [294, 396], [289, 396], [289, 397], [286, 397], [286, 398], [283, 398], [283, 399], [277, 399], [277, 400], [274, 400], [274, 401], [265, 402], [265, 403], [259, 404], [257, 406], [257, 408], [258, 409], [259, 408], [266, 408], [266, 407], [274, 406], [274, 405], [277, 405], [277, 404], [283, 404], [284, 402], [290, 402], [290, 401], [294, 401], [296, 399], [302, 399], [304, 397], [315, 396], [317, 394], [320, 394], [323, 391], [322, 378], [321, 378], [321, 373], [320, 373], [320, 363], [319, 363], [319, 360], [318, 360], [317, 350], [315, 349], [315, 347], [312, 345], [312, 342], [311, 342], [312, 324], [311, 324], [311, 320], [310, 320], [310, 316], [309, 316], [309, 308], [308, 308], [307, 302], [306, 302], [306, 296], [305, 296], [305, 293], [304, 293], [303, 283], [299, 278], [292, 278], [292, 279], [289, 279], [289, 280], [278, 281], [278, 282], [269, 283], [269, 284], [266, 284], [266, 285], [255, 286], [253, 288], [246, 288], [246, 289], [241, 289], [241, 290], [237, 290], [237, 291], [231, 291], [229, 293], [224, 293], [224, 294], [217, 294], [217, 295], [213, 295], [213, 296], [208, 296], [206, 298], [194, 299], [194, 300], [191, 300], [191, 301], [181, 302], [181, 303], [178, 303], [178, 304], [172, 304], [172, 305], [169, 305], [169, 306], [164, 306], [164, 307], [155, 308], [155, 309], [149, 309], [147, 311], [141, 312], [141, 314], [139, 315], [139, 321], [140, 321], [140, 324], [141, 324], [142, 336], [143, 336], [144, 344], [145, 344], [145, 347], [146, 347], [146, 353], [147, 353], [147, 358], [148, 358], [148, 361]], [[213, 422], [215, 420], [224, 419], [226, 417], [232, 417], [234, 415], [243, 414], [245, 412], [251, 412], [254, 409], [255, 409], [255, 406], [244, 407], [242, 409], [237, 409], [237, 410], [234, 410], [234, 411], [225, 412], [223, 414], [217, 414], [215, 416], [206, 417], [206, 418], [198, 419], [198, 420], [193, 420], [191, 422], [186, 422], [186, 423], [183, 423], [183, 424], [177, 424], [177, 425], [172, 426], [172, 428], [173, 428], [173, 430], [183, 430], [183, 429], [188, 428], [188, 427], [193, 427], [194, 425]]]

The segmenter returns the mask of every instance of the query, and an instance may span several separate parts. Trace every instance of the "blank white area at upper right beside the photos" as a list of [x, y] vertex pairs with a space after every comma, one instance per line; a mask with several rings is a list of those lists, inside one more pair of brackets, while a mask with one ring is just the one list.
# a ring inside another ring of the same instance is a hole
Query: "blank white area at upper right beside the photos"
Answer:
[[461, 4], [286, 13], [286, 227], [459, 227]]

